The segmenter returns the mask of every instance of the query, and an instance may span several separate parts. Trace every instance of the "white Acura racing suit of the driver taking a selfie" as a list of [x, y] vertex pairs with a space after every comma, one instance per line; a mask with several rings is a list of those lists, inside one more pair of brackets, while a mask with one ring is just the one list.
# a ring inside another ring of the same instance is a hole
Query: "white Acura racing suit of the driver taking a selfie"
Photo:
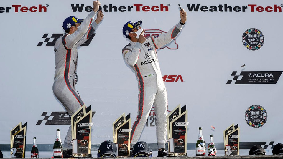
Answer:
[[132, 42], [122, 50], [127, 64], [136, 72], [139, 85], [138, 115], [131, 131], [131, 144], [135, 144], [154, 105], [158, 148], [166, 143], [167, 92], [160, 72], [156, 49], [168, 44], [182, 29], [178, 23], [167, 33], [151, 36], [144, 43]]

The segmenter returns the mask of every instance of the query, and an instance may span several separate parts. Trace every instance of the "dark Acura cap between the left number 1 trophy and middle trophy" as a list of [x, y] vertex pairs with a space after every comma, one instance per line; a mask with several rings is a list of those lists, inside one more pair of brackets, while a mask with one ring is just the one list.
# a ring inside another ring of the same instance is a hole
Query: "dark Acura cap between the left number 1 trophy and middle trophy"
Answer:
[[97, 157], [116, 157], [117, 146], [112, 141], [104, 141], [98, 148]]

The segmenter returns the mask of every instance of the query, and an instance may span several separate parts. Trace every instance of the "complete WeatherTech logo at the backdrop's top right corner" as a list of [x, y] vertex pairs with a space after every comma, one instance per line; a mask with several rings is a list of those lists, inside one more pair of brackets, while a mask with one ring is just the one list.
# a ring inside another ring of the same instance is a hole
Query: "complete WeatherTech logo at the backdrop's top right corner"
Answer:
[[257, 4], [248, 4], [247, 6], [229, 6], [228, 4], [219, 4], [218, 6], [202, 6], [200, 4], [187, 4], [189, 11], [210, 11], [210, 12], [282, 12], [283, 4], [272, 6], [259, 6]]

